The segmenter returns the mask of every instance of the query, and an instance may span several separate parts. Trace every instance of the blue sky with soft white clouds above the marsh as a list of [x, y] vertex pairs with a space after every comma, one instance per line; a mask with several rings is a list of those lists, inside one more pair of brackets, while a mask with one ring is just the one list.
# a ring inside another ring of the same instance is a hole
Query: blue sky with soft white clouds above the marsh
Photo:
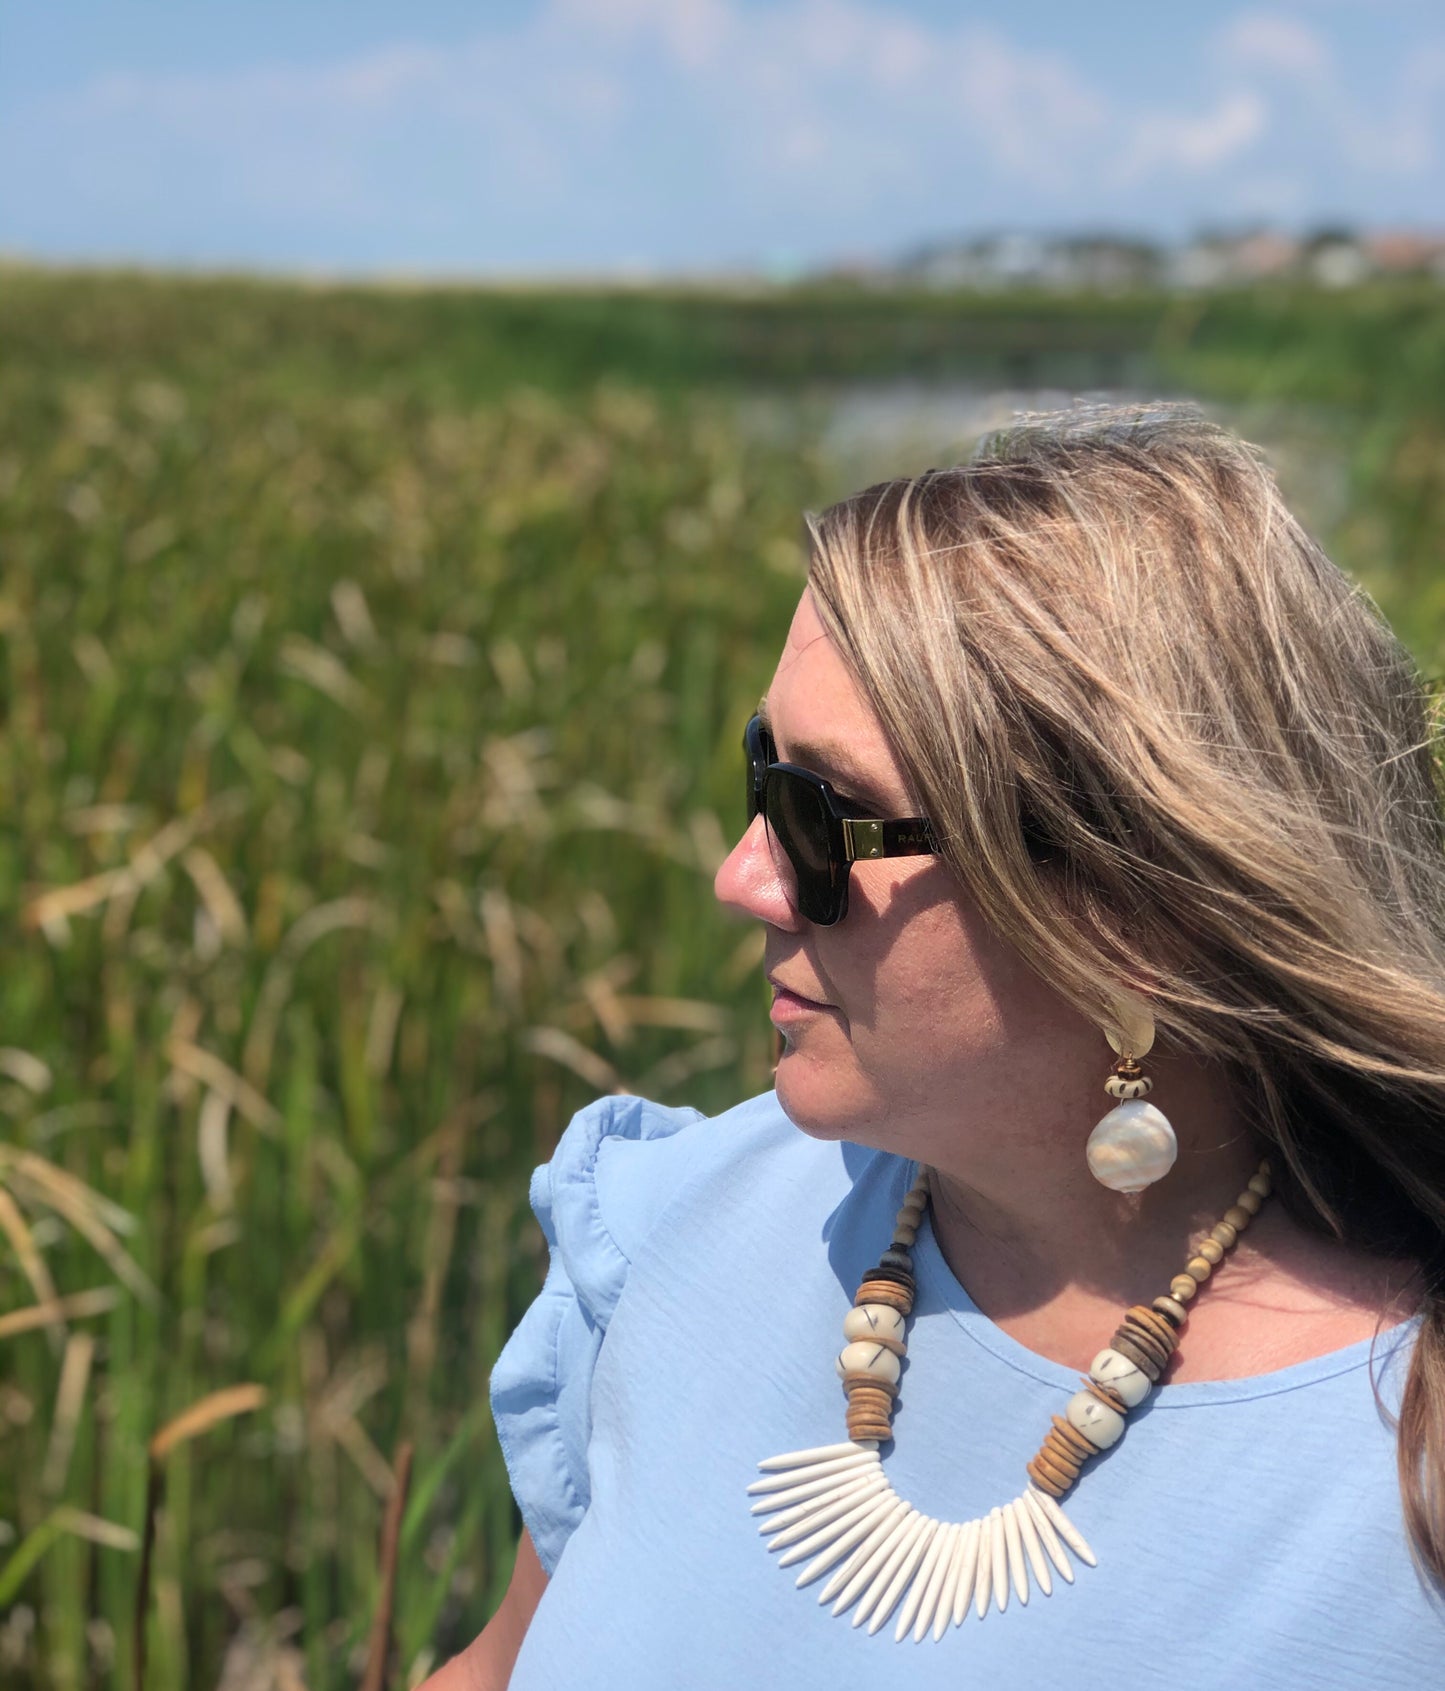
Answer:
[[982, 228], [1445, 225], [1445, 5], [3, 0], [0, 250], [789, 269]]

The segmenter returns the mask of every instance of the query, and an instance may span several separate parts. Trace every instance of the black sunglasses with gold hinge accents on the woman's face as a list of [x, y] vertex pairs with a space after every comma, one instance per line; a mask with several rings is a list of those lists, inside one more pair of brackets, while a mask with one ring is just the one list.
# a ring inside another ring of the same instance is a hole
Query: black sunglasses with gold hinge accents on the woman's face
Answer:
[[772, 857], [793, 883], [798, 913], [830, 928], [848, 913], [848, 869], [859, 859], [923, 857], [938, 851], [926, 817], [882, 820], [847, 807], [811, 769], [777, 763], [772, 736], [754, 717], [747, 752], [747, 820], [762, 812]]

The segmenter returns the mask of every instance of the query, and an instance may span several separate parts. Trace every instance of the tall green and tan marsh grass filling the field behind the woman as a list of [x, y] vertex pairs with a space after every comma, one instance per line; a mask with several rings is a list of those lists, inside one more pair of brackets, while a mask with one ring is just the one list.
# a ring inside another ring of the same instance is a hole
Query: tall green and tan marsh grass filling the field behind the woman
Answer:
[[[0, 1681], [392, 1681], [487, 1618], [570, 1113], [767, 1084], [713, 908], [830, 489], [755, 391], [1296, 406], [1445, 666], [1440, 296], [0, 289]], [[149, 1500], [149, 1502], [147, 1502]], [[154, 1508], [150, 1507], [154, 1503]], [[147, 1588], [137, 1637], [140, 1561]]]

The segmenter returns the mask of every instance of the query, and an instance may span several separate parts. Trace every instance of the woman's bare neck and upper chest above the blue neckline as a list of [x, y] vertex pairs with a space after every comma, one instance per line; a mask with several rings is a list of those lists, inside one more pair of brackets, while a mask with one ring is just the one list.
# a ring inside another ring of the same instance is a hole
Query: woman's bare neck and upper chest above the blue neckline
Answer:
[[[1056, 1135], [1024, 1130], [987, 1153], [965, 1148], [955, 1167], [928, 1158], [948, 1267], [997, 1326], [1066, 1366], [1087, 1368], [1129, 1304], [1168, 1292], [1257, 1168], [1217, 1074], [1173, 1064], [1156, 1094], [1180, 1157], [1137, 1196], [1088, 1174], [1092, 1121], [1061, 1150]], [[1268, 1199], [1190, 1304], [1166, 1378], [1256, 1375], [1369, 1338], [1411, 1312], [1413, 1268], [1311, 1234]]]

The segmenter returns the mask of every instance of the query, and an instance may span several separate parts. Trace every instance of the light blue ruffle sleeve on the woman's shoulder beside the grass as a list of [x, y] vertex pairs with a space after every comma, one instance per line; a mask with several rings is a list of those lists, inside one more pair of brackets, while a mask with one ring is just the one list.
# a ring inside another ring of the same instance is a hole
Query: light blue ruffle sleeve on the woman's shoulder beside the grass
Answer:
[[532, 1174], [548, 1277], [492, 1368], [492, 1419], [512, 1495], [548, 1574], [590, 1498], [592, 1375], [630, 1253], [674, 1185], [678, 1160], [649, 1145], [703, 1119], [644, 1097], [578, 1111]]

